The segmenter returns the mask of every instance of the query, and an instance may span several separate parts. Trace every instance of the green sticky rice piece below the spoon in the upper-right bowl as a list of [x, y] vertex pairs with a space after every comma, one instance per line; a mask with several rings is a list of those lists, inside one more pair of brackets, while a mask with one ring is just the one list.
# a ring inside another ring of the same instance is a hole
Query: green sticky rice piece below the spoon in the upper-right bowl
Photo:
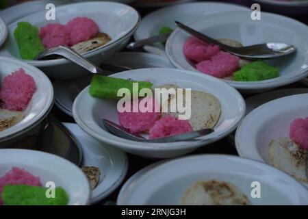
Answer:
[[258, 60], [246, 64], [233, 75], [235, 81], [263, 81], [279, 77], [279, 68]]

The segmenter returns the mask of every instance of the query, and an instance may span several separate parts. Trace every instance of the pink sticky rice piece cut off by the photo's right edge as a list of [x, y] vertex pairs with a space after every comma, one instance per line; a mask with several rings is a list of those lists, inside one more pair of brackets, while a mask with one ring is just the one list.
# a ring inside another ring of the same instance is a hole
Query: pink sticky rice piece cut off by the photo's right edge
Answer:
[[290, 138], [302, 149], [308, 150], [308, 117], [296, 118], [291, 123]]

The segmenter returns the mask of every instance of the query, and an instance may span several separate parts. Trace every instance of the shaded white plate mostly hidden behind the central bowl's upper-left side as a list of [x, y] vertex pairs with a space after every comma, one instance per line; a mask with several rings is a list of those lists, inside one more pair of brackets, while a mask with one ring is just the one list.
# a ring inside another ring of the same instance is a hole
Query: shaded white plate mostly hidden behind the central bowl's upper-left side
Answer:
[[[105, 61], [108, 64], [129, 68], [172, 68], [169, 60], [161, 55], [149, 53], [116, 53]], [[79, 91], [90, 84], [92, 75], [73, 80], [55, 80], [55, 105], [68, 116], [73, 116], [73, 103]]]

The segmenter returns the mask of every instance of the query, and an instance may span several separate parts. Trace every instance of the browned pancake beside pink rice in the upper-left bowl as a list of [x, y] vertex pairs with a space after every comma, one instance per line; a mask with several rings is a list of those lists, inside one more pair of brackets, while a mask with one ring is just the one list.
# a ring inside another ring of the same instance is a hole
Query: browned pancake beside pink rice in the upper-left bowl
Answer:
[[92, 51], [93, 49], [97, 49], [103, 45], [105, 45], [107, 42], [111, 40], [110, 36], [105, 33], [100, 33], [97, 34], [94, 38], [84, 41], [84, 42], [79, 42], [75, 44], [72, 49], [74, 49], [77, 53], [83, 54], [88, 51]]

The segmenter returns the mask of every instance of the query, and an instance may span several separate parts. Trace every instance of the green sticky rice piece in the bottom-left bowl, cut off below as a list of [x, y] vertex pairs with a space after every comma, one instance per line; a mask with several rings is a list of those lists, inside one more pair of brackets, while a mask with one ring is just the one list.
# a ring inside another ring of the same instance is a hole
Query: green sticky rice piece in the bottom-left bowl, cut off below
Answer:
[[68, 194], [55, 188], [55, 198], [47, 198], [48, 188], [32, 185], [5, 185], [1, 194], [3, 205], [67, 205]]

